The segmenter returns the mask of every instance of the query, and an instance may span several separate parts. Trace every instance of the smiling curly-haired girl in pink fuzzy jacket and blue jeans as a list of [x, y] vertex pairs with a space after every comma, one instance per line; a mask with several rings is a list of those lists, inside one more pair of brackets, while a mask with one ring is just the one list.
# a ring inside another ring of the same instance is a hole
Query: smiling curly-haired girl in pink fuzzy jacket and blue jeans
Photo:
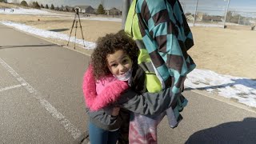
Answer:
[[170, 89], [142, 94], [146, 92], [145, 74], [137, 64], [138, 47], [123, 30], [106, 34], [96, 43], [82, 86], [90, 117], [90, 143], [115, 144], [128, 138], [118, 140], [121, 125], [129, 130], [129, 111], [162, 114], [176, 101]]

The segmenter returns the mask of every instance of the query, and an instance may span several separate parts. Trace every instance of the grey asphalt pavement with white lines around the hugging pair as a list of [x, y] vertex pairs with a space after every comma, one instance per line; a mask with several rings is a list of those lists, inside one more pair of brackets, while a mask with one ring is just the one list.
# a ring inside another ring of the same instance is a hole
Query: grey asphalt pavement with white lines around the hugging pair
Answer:
[[[88, 118], [82, 76], [90, 57], [0, 25], [0, 143], [79, 143]], [[256, 143], [250, 107], [198, 90], [175, 129], [166, 118], [158, 143]], [[84, 140], [83, 143], [87, 143]]]

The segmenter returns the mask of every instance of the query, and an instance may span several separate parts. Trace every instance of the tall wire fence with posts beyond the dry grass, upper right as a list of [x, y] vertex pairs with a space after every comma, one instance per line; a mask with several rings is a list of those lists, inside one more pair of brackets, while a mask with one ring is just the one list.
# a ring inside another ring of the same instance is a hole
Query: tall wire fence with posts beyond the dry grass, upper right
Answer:
[[[190, 26], [253, 26], [256, 12], [230, 7], [232, 0], [180, 0]], [[256, 6], [255, 6], [256, 8]]]

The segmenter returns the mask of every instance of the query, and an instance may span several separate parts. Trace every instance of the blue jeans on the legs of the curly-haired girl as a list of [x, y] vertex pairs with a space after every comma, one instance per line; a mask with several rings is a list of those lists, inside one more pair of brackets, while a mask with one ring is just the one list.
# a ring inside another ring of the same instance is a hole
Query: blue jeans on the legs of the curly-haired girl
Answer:
[[118, 141], [119, 130], [108, 131], [102, 130], [98, 126], [89, 122], [90, 144], [116, 144]]

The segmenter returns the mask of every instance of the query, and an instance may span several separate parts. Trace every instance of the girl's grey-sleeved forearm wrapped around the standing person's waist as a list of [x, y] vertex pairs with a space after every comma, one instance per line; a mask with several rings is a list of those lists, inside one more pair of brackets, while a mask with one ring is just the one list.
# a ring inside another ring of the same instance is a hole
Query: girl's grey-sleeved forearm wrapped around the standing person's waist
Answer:
[[120, 106], [134, 113], [144, 115], [161, 114], [170, 106], [177, 105], [177, 98], [184, 100], [182, 94], [173, 94], [171, 88], [162, 90], [159, 93], [137, 94], [133, 90], [126, 90], [118, 100]]

